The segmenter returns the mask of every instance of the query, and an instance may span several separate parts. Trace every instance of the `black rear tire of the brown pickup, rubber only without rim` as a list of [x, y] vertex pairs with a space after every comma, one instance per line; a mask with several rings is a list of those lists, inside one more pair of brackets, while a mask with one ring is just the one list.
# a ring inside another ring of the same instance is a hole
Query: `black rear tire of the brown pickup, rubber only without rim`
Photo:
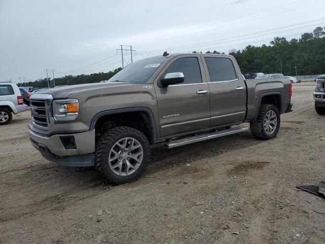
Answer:
[[[277, 125], [275, 131], [270, 135], [264, 129], [264, 118], [268, 111], [273, 110], [277, 117]], [[273, 104], [261, 104], [256, 119], [250, 123], [250, 131], [257, 139], [269, 140], [278, 134], [280, 128], [280, 112]]]

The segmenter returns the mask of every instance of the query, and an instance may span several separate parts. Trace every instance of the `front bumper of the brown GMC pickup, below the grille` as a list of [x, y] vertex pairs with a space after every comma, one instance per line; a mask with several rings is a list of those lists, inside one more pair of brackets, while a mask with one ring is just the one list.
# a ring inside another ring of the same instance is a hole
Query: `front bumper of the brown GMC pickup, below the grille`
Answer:
[[49, 161], [72, 167], [94, 165], [95, 131], [45, 137], [29, 130], [29, 139]]

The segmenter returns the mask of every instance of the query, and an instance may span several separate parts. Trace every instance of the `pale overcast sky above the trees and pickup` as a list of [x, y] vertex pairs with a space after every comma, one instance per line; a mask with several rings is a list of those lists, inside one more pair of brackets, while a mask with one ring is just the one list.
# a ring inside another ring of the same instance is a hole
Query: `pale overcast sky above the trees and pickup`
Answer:
[[120, 45], [136, 61], [299, 38], [325, 26], [320, 9], [324, 0], [0, 0], [0, 82], [108, 72], [122, 66]]

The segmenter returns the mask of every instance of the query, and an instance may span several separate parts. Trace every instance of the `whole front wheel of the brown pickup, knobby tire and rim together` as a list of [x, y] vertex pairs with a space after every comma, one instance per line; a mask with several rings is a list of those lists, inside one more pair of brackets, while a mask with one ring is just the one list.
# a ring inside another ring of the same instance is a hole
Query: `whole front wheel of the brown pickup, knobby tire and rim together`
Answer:
[[106, 131], [96, 145], [96, 168], [109, 182], [124, 184], [137, 180], [150, 158], [148, 139], [129, 127]]

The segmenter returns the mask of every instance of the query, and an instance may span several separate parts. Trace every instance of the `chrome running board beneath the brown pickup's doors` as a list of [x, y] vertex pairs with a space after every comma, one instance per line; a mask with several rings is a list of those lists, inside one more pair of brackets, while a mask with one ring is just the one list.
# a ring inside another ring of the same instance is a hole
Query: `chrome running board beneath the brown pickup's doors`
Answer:
[[218, 137], [222, 137], [222, 136], [233, 135], [233, 134], [237, 134], [237, 133], [248, 131], [248, 130], [249, 130], [249, 128], [246, 127], [246, 128], [231, 128], [228, 130], [209, 132], [209, 133], [204, 133], [204, 134], [200, 134], [197, 136], [191, 136], [191, 137], [185, 137], [185, 138], [181, 138], [181, 139], [171, 140], [169, 142], [166, 142], [165, 146], [167, 148], [173, 148], [173, 147], [183, 146], [183, 145], [187, 145], [187, 144], [191, 144], [191, 143], [195, 143], [195, 142], [199, 142], [199, 141], [205, 141], [205, 140], [209, 140], [209, 139], [213, 139], [213, 138], [218, 138]]

